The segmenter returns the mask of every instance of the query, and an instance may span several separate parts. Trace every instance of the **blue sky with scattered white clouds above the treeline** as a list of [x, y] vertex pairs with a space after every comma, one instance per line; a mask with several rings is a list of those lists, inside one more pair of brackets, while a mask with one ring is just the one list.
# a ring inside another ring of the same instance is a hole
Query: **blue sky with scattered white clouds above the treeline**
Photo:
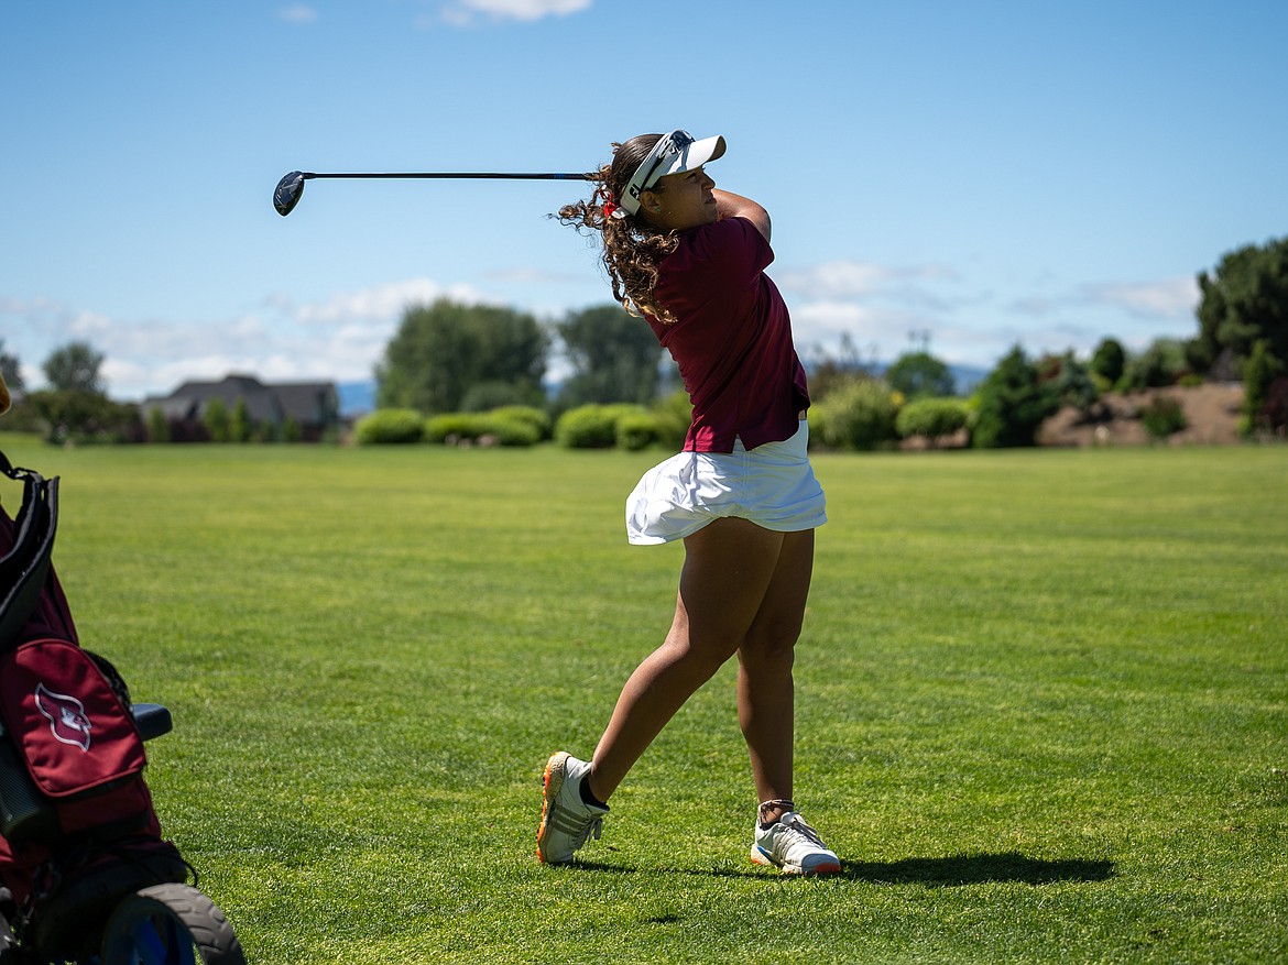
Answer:
[[1197, 331], [1194, 277], [1288, 234], [1282, 0], [63, 0], [0, 6], [0, 338], [70, 341], [121, 399], [370, 378], [403, 308], [609, 300], [562, 183], [724, 134], [774, 219], [804, 353], [929, 337], [990, 367]]

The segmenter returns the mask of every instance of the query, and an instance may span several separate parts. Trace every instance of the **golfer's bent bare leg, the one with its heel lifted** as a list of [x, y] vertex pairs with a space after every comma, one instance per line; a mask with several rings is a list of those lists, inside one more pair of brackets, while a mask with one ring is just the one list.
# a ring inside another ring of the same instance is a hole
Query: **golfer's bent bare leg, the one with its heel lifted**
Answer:
[[743, 645], [778, 567], [782, 533], [716, 520], [684, 540], [675, 620], [635, 669], [595, 748], [590, 790], [608, 800], [675, 712]]

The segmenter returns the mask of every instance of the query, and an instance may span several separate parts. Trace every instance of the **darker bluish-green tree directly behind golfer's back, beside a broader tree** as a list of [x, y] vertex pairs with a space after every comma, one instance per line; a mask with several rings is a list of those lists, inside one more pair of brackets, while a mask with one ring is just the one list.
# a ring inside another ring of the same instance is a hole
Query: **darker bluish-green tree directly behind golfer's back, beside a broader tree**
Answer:
[[572, 311], [555, 324], [573, 373], [559, 391], [560, 409], [587, 403], [647, 405], [657, 396], [662, 347], [647, 322], [621, 305]]

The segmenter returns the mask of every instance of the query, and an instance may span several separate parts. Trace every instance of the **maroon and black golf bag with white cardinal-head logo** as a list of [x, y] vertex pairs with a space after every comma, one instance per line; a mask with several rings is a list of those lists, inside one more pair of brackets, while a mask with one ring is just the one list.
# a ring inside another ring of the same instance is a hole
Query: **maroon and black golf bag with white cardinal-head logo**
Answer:
[[169, 712], [80, 647], [50, 564], [58, 480], [3, 453], [0, 472], [23, 482], [0, 510], [0, 962], [89, 961], [122, 897], [188, 879], [142, 776]]

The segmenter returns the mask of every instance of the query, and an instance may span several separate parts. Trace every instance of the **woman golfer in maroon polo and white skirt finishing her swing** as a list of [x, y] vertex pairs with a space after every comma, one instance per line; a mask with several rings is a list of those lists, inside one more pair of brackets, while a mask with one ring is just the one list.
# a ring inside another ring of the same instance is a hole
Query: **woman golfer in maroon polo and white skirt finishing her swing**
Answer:
[[738, 722], [760, 800], [751, 859], [792, 874], [841, 865], [792, 803], [792, 654], [823, 490], [806, 455], [805, 371], [764, 269], [769, 215], [715, 190], [703, 165], [724, 138], [647, 134], [614, 145], [590, 201], [559, 211], [596, 229], [613, 297], [643, 315], [693, 401], [684, 452], [626, 502], [631, 543], [684, 540], [675, 619], [631, 674], [586, 762], [546, 763], [537, 856], [572, 859], [599, 838], [608, 799], [667, 721], [733, 655]]

